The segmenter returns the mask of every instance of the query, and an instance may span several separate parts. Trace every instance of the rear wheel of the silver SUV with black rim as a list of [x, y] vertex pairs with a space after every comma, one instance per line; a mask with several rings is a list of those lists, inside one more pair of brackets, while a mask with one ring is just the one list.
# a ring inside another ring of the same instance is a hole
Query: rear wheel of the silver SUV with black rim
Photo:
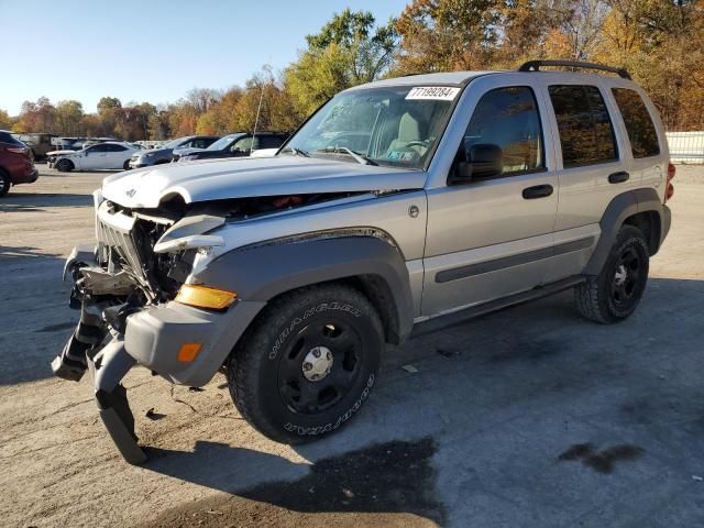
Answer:
[[623, 226], [596, 276], [574, 288], [574, 302], [585, 318], [610, 324], [628, 318], [638, 306], [648, 282], [649, 251], [638, 228]]

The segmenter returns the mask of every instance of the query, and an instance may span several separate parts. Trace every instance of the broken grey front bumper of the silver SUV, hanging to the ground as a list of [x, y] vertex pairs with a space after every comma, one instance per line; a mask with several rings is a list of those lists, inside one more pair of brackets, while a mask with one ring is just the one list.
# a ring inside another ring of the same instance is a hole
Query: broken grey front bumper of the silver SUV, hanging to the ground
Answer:
[[[95, 254], [79, 246], [66, 261], [64, 274], [77, 280], [81, 267], [97, 265]], [[175, 384], [205, 385], [265, 302], [239, 300], [221, 312], [175, 301], [129, 306], [124, 311], [129, 315], [121, 318], [118, 314], [128, 304], [120, 301], [109, 295], [86, 295], [74, 287], [70, 305], [80, 308], [80, 322], [52, 362], [52, 370], [72, 381], [79, 381], [87, 369], [92, 371], [100, 417], [122, 457], [139, 464], [146, 458], [136, 443], [122, 378], [134, 365], [141, 365]], [[199, 343], [200, 350], [190, 361], [179, 361], [179, 350], [186, 343]]]

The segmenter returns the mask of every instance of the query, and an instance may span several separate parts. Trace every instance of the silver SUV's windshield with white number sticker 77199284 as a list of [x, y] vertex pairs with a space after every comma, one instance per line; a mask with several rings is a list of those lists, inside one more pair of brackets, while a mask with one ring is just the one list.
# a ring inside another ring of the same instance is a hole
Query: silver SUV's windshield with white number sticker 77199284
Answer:
[[341, 94], [286, 143], [282, 155], [334, 156], [356, 163], [424, 168], [460, 94], [459, 87], [380, 87]]

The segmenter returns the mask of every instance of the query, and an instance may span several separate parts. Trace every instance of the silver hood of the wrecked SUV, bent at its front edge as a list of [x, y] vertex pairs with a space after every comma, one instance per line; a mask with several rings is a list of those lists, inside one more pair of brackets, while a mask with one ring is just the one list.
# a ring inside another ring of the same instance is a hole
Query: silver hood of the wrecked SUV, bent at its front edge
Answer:
[[129, 208], [155, 208], [180, 195], [186, 204], [255, 196], [420, 189], [422, 170], [298, 156], [175, 163], [113, 174], [102, 196]]

